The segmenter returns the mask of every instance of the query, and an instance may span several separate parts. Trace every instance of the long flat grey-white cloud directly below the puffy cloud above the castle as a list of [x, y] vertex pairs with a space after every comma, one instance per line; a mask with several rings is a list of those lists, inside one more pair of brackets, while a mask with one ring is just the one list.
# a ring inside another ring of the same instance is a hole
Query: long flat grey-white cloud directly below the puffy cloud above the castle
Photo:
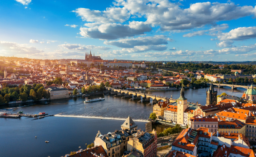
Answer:
[[141, 46], [141, 45], [168, 44], [167, 41], [173, 41], [173, 40], [170, 38], [167, 38], [164, 35], [155, 35], [153, 37], [147, 36], [147, 37], [120, 39], [118, 41], [105, 41], [104, 44], [114, 45], [122, 48], [132, 48], [134, 46]]

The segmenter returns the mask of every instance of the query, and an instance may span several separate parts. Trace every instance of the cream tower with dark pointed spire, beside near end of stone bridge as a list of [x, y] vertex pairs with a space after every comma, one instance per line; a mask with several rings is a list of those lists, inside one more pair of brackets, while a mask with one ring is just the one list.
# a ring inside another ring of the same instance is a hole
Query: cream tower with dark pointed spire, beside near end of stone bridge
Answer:
[[181, 87], [181, 96], [177, 99], [177, 123], [184, 124], [184, 111], [188, 108], [187, 98], [184, 96], [183, 84]]

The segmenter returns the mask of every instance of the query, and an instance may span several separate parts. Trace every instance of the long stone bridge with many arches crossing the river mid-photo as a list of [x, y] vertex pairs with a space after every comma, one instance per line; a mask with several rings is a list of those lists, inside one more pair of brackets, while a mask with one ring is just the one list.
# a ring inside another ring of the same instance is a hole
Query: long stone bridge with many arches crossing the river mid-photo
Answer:
[[[140, 99], [141, 101], [150, 101], [150, 98], [153, 100], [153, 103], [157, 103], [159, 101], [166, 101], [169, 100], [170, 102], [175, 102], [176, 99], [163, 97], [163, 96], [156, 96], [156, 95], [150, 95], [145, 93], [139, 93], [135, 91], [128, 91], [123, 89], [115, 89], [111, 87], [105, 87], [106, 90], [110, 91], [112, 94], [122, 95], [124, 97], [132, 97], [132, 99]], [[141, 99], [142, 97], [142, 99]]]

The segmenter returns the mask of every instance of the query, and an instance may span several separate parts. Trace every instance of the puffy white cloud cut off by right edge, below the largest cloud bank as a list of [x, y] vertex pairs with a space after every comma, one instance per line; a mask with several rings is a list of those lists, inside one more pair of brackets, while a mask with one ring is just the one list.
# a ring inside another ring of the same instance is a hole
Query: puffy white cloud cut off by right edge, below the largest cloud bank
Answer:
[[256, 37], [256, 27], [238, 27], [218, 35], [219, 40], [245, 40]]

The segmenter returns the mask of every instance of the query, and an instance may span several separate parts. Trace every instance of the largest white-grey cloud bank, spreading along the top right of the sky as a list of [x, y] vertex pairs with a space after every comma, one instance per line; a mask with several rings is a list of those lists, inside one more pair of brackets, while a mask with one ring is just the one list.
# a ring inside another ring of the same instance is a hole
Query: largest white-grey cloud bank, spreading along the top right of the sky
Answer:
[[252, 6], [238, 6], [234, 3], [195, 3], [186, 9], [181, 8], [179, 3], [168, 0], [118, 0], [115, 5], [123, 6], [132, 15], [144, 16], [146, 24], [160, 26], [165, 31], [191, 29], [255, 15], [255, 8]]

